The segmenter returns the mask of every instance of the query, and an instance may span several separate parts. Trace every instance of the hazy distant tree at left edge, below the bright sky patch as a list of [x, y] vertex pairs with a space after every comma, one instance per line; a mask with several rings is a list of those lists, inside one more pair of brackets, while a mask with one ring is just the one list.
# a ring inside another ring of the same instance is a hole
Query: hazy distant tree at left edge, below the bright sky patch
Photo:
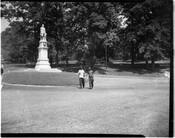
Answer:
[[3, 58], [12, 62], [25, 62], [26, 37], [18, 32], [20, 29], [19, 22], [13, 22], [10, 26], [11, 28], [7, 28], [1, 34], [2, 49], [5, 52], [2, 52]]

